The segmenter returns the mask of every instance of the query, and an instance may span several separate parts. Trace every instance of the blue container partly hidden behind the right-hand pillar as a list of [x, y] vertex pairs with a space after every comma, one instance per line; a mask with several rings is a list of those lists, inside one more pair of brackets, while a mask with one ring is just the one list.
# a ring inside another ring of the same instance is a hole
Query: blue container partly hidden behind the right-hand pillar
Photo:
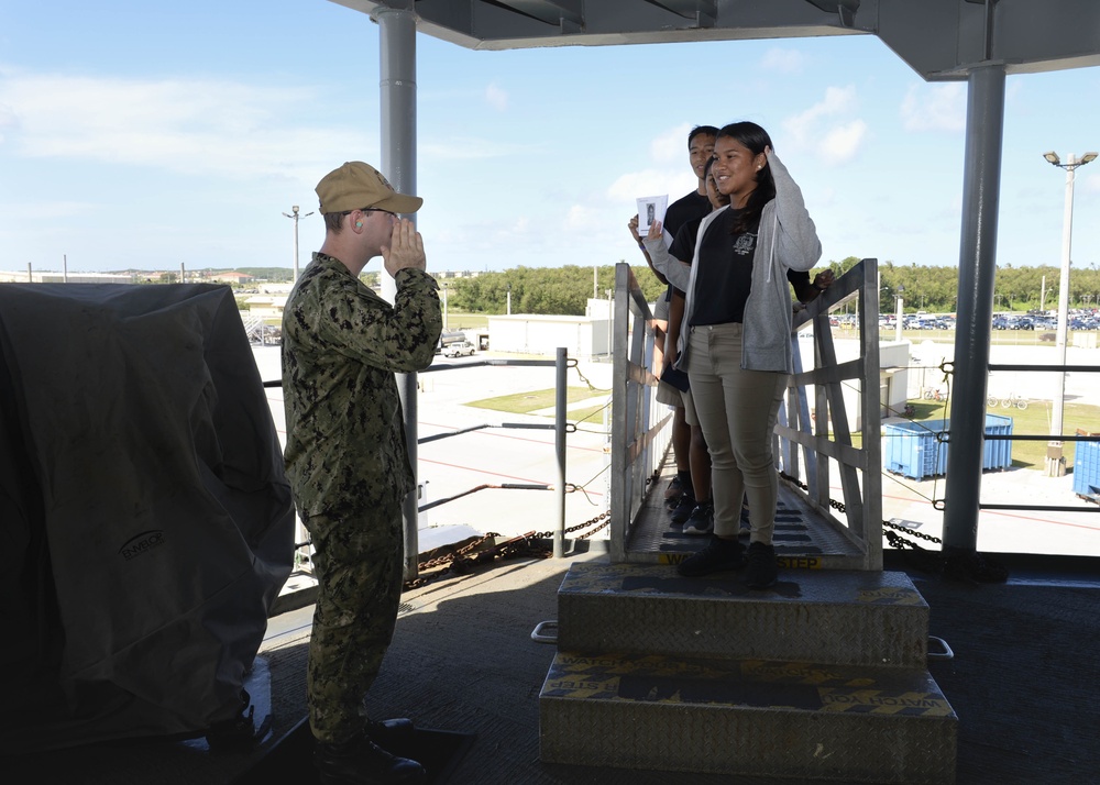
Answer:
[[[912, 479], [947, 473], [947, 442], [944, 435], [950, 420], [895, 422], [882, 427], [882, 466], [893, 474]], [[986, 414], [986, 435], [1012, 435], [1012, 418]], [[986, 441], [982, 468], [1008, 468], [1012, 465], [1012, 442]]]

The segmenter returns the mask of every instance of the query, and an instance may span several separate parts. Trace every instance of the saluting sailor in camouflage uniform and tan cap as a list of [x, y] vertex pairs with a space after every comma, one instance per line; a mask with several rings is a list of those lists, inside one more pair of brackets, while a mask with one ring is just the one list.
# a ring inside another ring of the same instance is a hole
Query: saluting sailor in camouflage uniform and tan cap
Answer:
[[[375, 742], [364, 699], [393, 637], [402, 589], [402, 501], [415, 485], [394, 373], [427, 367], [442, 319], [424, 241], [396, 213], [422, 200], [350, 162], [317, 186], [326, 235], [283, 316], [286, 469], [314, 545], [309, 723], [327, 783], [417, 783], [419, 763]], [[359, 275], [382, 255], [394, 305]], [[373, 740], [372, 740], [373, 737]]]

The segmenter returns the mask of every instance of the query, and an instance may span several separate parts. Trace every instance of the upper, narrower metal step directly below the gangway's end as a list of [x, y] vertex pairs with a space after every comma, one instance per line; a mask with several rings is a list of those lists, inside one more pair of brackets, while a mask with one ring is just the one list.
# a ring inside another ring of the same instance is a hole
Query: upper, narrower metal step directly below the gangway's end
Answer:
[[759, 591], [736, 573], [590, 562], [558, 591], [558, 649], [924, 670], [928, 605], [904, 573], [781, 571]]

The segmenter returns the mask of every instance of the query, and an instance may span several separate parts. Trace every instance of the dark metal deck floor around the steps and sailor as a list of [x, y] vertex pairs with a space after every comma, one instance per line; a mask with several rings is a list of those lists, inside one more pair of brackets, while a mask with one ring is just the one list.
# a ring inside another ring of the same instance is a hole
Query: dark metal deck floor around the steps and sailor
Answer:
[[[1007, 584], [970, 586], [906, 568], [931, 608], [931, 630], [955, 659], [930, 666], [959, 717], [957, 783], [1100, 783], [1100, 560], [1005, 556]], [[449, 785], [718, 785], [721, 775], [547, 765], [539, 761], [539, 690], [553, 646], [530, 639], [557, 618], [562, 560], [485, 565], [407, 591], [410, 610], [372, 693], [378, 716], [477, 733]], [[237, 781], [305, 716], [311, 608], [272, 620], [274, 734], [252, 755], [212, 756], [178, 744], [111, 744], [0, 760], [6, 782], [222, 785]], [[738, 785], [795, 785], [738, 777]], [[799, 785], [804, 785], [800, 783]]]

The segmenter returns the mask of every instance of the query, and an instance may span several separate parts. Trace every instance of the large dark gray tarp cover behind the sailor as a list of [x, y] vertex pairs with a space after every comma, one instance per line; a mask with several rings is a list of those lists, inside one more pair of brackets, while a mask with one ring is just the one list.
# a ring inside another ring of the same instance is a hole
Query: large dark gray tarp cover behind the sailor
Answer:
[[224, 286], [0, 285], [0, 752], [241, 709], [294, 508]]

